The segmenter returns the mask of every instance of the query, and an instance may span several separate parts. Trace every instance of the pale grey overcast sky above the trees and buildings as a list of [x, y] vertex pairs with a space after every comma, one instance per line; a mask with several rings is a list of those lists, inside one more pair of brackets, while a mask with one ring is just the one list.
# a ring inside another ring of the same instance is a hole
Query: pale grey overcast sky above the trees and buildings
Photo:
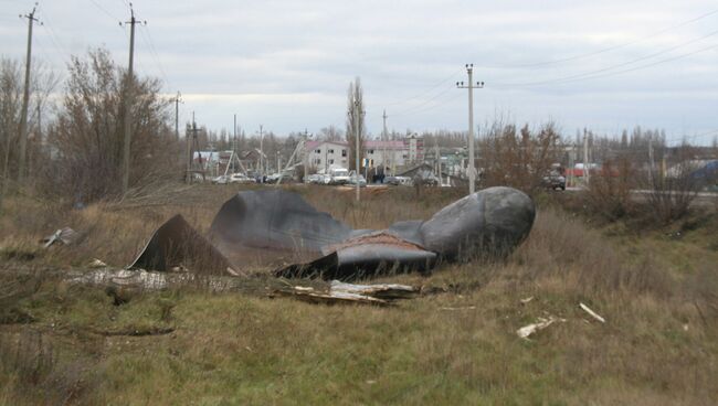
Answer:
[[[34, 1], [0, 0], [0, 53], [24, 60]], [[718, 135], [718, 3], [706, 0], [134, 1], [147, 20], [136, 71], [181, 92], [180, 120], [247, 133], [345, 127], [361, 77], [368, 130], [467, 127], [464, 64], [474, 63], [477, 125], [504, 117], [563, 133], [636, 125], [709, 143]], [[40, 1], [33, 56], [107, 47], [126, 64], [125, 0]], [[710, 132], [714, 131], [714, 132]], [[703, 136], [700, 136], [703, 135]]]

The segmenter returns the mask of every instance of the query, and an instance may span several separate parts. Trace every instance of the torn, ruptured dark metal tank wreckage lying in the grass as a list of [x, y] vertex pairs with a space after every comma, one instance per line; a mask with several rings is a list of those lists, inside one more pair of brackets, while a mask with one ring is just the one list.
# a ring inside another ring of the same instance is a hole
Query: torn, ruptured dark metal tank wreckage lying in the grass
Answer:
[[[398, 222], [379, 232], [352, 231], [296, 193], [244, 191], [225, 202], [214, 217], [210, 228], [214, 246], [176, 216], [157, 231], [133, 266], [161, 270], [168, 263], [187, 260], [188, 255], [209, 253], [215, 259], [213, 269], [229, 263], [275, 266], [274, 275], [288, 278], [353, 280], [427, 273], [437, 260], [507, 255], [526, 238], [535, 216], [528, 195], [490, 188], [450, 204], [425, 222]], [[191, 242], [198, 242], [192, 253], [177, 256], [172, 250]]]

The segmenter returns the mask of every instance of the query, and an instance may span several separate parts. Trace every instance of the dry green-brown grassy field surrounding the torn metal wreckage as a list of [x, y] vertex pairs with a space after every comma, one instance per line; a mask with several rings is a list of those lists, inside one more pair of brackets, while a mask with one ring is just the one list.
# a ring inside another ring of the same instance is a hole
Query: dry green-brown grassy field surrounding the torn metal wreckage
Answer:
[[[460, 191], [294, 188], [356, 227], [427, 218]], [[198, 286], [129, 295], [73, 286], [92, 258], [129, 264], [182, 213], [205, 232], [234, 186], [176, 188], [81, 211], [31, 197], [0, 217], [0, 404], [718, 403], [718, 215], [636, 232], [587, 225], [540, 196], [506, 261], [445, 265], [393, 308], [270, 299]], [[38, 248], [71, 226], [75, 247]], [[525, 300], [532, 298], [531, 300]], [[600, 323], [583, 302], [606, 319]], [[564, 319], [519, 339], [538, 318]], [[133, 332], [159, 332], [134, 335]], [[165, 333], [167, 332], [167, 333]]]

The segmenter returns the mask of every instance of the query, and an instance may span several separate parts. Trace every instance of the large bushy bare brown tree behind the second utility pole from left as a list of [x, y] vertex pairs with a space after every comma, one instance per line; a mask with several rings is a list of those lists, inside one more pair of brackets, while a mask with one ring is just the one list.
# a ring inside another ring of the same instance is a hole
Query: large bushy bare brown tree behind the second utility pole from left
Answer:
[[[119, 195], [126, 79], [106, 50], [92, 50], [86, 60], [73, 56], [63, 106], [50, 129], [49, 142], [56, 153], [45, 189], [72, 193], [82, 202]], [[168, 126], [169, 105], [160, 98], [160, 83], [134, 79], [130, 185], [140, 188], [179, 171], [180, 152]]]

